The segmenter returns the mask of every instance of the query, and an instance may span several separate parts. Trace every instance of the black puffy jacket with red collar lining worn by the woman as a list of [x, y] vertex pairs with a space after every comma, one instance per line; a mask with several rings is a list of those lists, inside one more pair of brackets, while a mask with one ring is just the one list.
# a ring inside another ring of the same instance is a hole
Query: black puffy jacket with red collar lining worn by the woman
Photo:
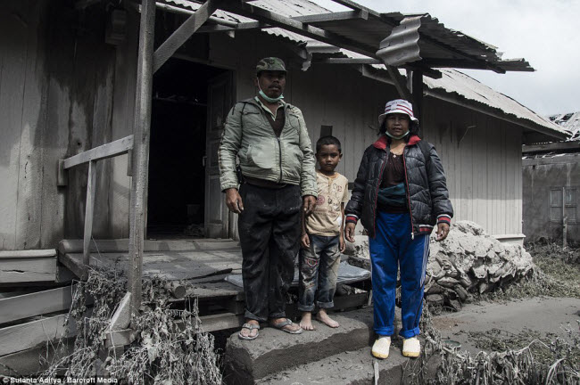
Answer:
[[[413, 237], [419, 233], [431, 233], [438, 222], [449, 224], [453, 216], [441, 160], [432, 144], [419, 144], [420, 141], [417, 135], [411, 135], [403, 151], [405, 186], [412, 226], [409, 231]], [[385, 135], [367, 148], [360, 161], [351, 200], [344, 210], [347, 223], [356, 223], [360, 218], [369, 236], [373, 238], [377, 218], [377, 193], [389, 153]]]

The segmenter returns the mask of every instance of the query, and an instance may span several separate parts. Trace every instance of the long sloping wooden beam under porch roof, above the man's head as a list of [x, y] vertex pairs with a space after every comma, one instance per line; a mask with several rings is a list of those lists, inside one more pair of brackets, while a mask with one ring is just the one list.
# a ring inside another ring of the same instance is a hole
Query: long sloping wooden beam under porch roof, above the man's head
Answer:
[[340, 35], [336, 35], [335, 33], [324, 29], [312, 27], [308, 24], [302, 23], [301, 21], [282, 16], [275, 12], [270, 12], [257, 6], [227, 2], [220, 7], [225, 11], [234, 12], [253, 20], [262, 21], [269, 25], [297, 33], [303, 37], [311, 37], [313, 39], [319, 40], [320, 42], [327, 43], [329, 45], [340, 46], [352, 52], [364, 54], [372, 58], [377, 57], [375, 55], [375, 52], [377, 51], [375, 47], [362, 45], [360, 42], [351, 40], [346, 37], [341, 37]]

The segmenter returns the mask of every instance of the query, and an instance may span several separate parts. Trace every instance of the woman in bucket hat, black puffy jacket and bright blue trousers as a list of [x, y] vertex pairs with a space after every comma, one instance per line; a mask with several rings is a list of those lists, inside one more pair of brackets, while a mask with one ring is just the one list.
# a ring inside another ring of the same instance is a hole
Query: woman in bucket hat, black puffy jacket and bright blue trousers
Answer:
[[447, 237], [453, 209], [441, 160], [435, 147], [418, 137], [418, 119], [410, 102], [387, 102], [378, 124], [382, 135], [362, 156], [351, 201], [344, 210], [344, 233], [354, 242], [359, 219], [369, 233], [377, 333], [372, 355], [389, 355], [401, 266], [402, 355], [416, 357], [429, 234], [437, 225], [436, 240]]

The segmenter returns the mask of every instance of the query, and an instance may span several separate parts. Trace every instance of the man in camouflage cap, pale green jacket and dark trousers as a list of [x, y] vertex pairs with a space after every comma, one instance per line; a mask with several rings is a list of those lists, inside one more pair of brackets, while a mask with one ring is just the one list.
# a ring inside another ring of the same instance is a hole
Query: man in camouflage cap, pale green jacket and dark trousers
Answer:
[[259, 61], [254, 85], [258, 95], [229, 111], [219, 152], [221, 190], [228, 209], [239, 214], [246, 304], [242, 340], [258, 337], [260, 322], [267, 321], [284, 332], [302, 332], [286, 318], [285, 297], [300, 247], [301, 209], [310, 215], [317, 196], [302, 111], [283, 101], [284, 61]]

